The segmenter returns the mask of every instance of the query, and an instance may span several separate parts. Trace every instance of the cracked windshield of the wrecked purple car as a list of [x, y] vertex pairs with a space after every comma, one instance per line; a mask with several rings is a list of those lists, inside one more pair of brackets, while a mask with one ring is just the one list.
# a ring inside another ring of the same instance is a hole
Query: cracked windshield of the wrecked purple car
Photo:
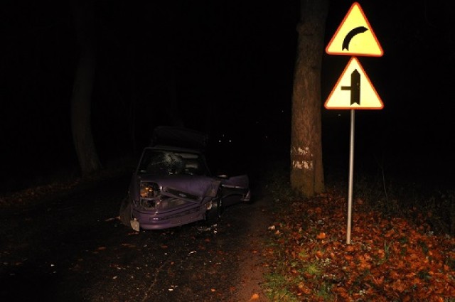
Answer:
[[208, 169], [198, 153], [145, 149], [139, 173], [208, 175]]

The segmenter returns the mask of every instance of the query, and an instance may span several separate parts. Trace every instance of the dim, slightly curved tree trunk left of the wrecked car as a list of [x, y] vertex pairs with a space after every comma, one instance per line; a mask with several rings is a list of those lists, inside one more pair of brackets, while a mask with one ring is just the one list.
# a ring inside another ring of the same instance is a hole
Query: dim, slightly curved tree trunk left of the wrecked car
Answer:
[[90, 121], [90, 104], [95, 82], [95, 37], [93, 6], [90, 1], [72, 1], [73, 16], [80, 47], [73, 95], [71, 96], [71, 130], [82, 176], [100, 170]]

